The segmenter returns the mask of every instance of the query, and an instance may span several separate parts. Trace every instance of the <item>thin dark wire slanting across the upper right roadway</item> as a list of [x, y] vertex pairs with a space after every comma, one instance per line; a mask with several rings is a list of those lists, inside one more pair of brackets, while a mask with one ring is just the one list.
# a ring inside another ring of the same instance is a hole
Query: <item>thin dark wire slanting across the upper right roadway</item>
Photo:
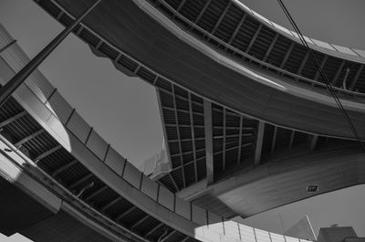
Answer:
[[347, 112], [347, 110], [345, 110], [342, 106], [341, 101], [339, 100], [339, 97], [337, 96], [335, 89], [333, 89], [331, 83], [328, 80], [328, 77], [326, 75], [326, 73], [323, 72], [323, 69], [321, 68], [321, 66], [319, 65], [318, 59], [315, 57], [312, 49], [308, 46], [308, 43], [306, 41], [306, 39], [303, 37], [302, 33], [300, 32], [299, 28], [297, 27], [296, 22], [294, 21], [294, 19], [292, 18], [292, 16], [290, 16], [287, 7], [284, 5], [284, 3], [282, 2], [282, 0], [277, 0], [279, 5], [281, 6], [281, 8], [283, 9], [284, 13], [287, 16], [287, 19], [289, 20], [290, 24], [294, 27], [295, 31], [297, 32], [297, 36], [299, 37], [300, 41], [302, 42], [303, 46], [306, 47], [308, 54], [310, 56], [310, 58], [312, 59], [315, 67], [317, 68], [321, 78], [325, 81], [325, 84], [330, 92], [330, 94], [332, 95], [333, 99], [336, 101], [337, 105], [339, 106], [339, 110], [341, 110], [343, 116], [345, 117], [345, 120], [348, 122], [349, 124], [349, 128], [351, 129], [351, 131], [354, 134], [354, 138], [356, 140], [358, 140], [358, 142], [360, 143], [360, 148], [362, 150], [363, 153], [365, 153], [365, 146], [363, 144], [363, 142], [361, 142], [360, 139], [360, 135], [359, 133], [356, 131], [355, 126], [353, 125], [352, 121], [349, 118], [349, 113]]

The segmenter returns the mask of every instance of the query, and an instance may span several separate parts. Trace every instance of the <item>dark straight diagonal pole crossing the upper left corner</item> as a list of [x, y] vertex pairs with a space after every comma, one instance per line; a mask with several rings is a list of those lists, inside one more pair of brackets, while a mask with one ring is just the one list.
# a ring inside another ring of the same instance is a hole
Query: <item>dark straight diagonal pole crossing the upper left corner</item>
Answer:
[[16, 75], [6, 82], [5, 86], [0, 89], [0, 105], [2, 105], [5, 100], [7, 100], [14, 91], [29, 77], [30, 74], [43, 62], [45, 58], [49, 56], [50, 53], [64, 40], [68, 37], [68, 34], [78, 26], [78, 24], [88, 16], [92, 9], [96, 5], [99, 5], [101, 0], [97, 0], [93, 5], [89, 7], [81, 16], [79, 16], [70, 26], [66, 27], [61, 33], [57, 35], [48, 45], [43, 48], [35, 58], [31, 59], [24, 68], [22, 68]]

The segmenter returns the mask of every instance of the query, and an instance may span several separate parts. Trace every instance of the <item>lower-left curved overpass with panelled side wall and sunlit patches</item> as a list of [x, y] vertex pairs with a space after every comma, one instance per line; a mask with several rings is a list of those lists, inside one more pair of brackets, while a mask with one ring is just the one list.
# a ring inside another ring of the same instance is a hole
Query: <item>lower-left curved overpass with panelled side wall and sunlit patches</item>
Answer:
[[[0, 29], [2, 85], [28, 58]], [[0, 107], [0, 231], [35, 241], [306, 241], [224, 220], [141, 174], [39, 72]]]

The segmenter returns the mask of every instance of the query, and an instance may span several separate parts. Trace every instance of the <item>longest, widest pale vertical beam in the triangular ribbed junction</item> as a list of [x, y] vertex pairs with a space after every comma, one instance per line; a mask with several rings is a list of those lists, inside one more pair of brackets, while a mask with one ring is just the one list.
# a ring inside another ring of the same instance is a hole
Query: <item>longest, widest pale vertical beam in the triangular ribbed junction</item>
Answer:
[[205, 131], [205, 159], [206, 159], [206, 182], [214, 183], [214, 161], [213, 161], [213, 123], [212, 123], [212, 102], [203, 101], [204, 109], [204, 131]]

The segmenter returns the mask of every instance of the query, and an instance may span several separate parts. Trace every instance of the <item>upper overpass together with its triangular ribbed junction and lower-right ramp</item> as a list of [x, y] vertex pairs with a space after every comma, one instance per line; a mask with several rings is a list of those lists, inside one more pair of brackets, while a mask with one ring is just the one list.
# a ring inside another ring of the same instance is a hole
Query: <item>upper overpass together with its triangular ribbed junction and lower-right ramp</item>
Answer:
[[[91, 5], [91, 1], [36, 2], [65, 26]], [[341, 147], [343, 153], [349, 150], [354, 155], [350, 157], [357, 167], [360, 151], [296, 34], [238, 1], [104, 1], [75, 34], [97, 56], [110, 58], [116, 68], [156, 87], [170, 157], [170, 169], [156, 177], [172, 192], [205, 207], [203, 201], [214, 204], [214, 200], [217, 205], [209, 208], [230, 217], [251, 216], [363, 183], [355, 179], [336, 184], [334, 180], [343, 181], [342, 174], [322, 176], [316, 172], [319, 164], [297, 165], [302, 158], [320, 160], [317, 153]], [[364, 51], [306, 39], [364, 137]], [[287, 159], [296, 165], [288, 168]], [[281, 163], [277, 168], [281, 173], [259, 175], [256, 168], [273, 163]], [[331, 165], [326, 159], [320, 163]], [[235, 202], [223, 198], [229, 190], [214, 186], [220, 183], [237, 192], [240, 186], [263, 185], [260, 181], [268, 179], [280, 189], [278, 181], [290, 174], [287, 169], [300, 174], [307, 168], [312, 169], [310, 179], [287, 186], [290, 198], [272, 203], [270, 197], [258, 196], [262, 205], [257, 208], [236, 210]], [[238, 181], [248, 172], [257, 172], [257, 179], [225, 184], [232, 171], [237, 177], [231, 178]], [[360, 177], [362, 172], [353, 169], [350, 174]], [[312, 184], [320, 184], [319, 190], [308, 193]], [[292, 195], [293, 191], [300, 193]]]

